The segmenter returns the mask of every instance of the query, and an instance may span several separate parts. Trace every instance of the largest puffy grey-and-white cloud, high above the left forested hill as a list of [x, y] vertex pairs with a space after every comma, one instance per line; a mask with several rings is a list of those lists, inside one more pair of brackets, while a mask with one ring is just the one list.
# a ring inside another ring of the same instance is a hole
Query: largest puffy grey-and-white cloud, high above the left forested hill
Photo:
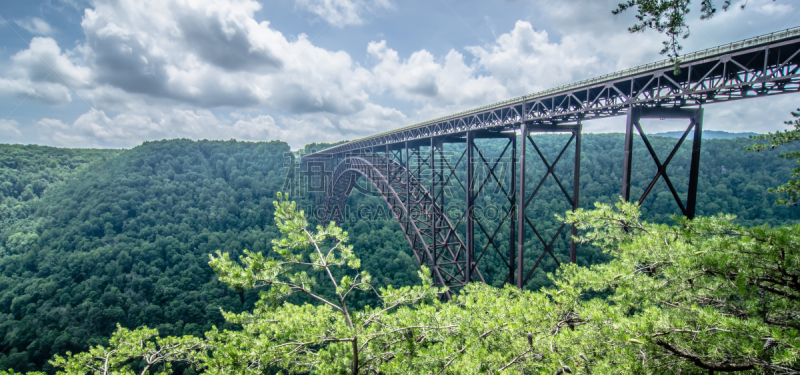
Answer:
[[368, 100], [368, 72], [347, 53], [316, 47], [304, 34], [289, 40], [257, 22], [255, 1], [116, 6], [98, 0], [82, 22], [98, 86], [203, 108], [292, 113], [354, 113]]

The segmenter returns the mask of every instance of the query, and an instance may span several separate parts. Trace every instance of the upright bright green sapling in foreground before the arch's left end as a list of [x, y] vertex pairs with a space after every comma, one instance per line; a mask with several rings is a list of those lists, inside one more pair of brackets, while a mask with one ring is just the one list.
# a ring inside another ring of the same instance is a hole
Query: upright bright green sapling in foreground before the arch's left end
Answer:
[[[294, 202], [278, 194], [275, 222], [284, 235], [274, 240], [279, 259], [245, 251], [241, 263], [227, 253], [211, 256], [209, 265], [220, 280], [239, 290], [263, 288], [253, 312], [223, 312], [241, 331], [212, 330], [208, 337], [217, 349], [207, 358], [210, 373], [261, 373], [287, 369], [296, 373], [374, 373], [383, 364], [407, 356], [394, 350], [418, 325], [391, 317], [391, 312], [438, 304], [443, 292], [431, 287], [427, 269], [420, 272], [421, 286], [375, 290], [360, 260], [346, 245], [347, 233], [333, 223], [307, 229], [308, 222]], [[335, 290], [321, 293], [313, 274], [321, 274]], [[382, 301], [354, 312], [353, 292], [373, 292]], [[315, 304], [286, 302], [293, 294], [310, 297]], [[406, 310], [404, 310], [406, 311]], [[406, 311], [406, 315], [409, 316]]]

